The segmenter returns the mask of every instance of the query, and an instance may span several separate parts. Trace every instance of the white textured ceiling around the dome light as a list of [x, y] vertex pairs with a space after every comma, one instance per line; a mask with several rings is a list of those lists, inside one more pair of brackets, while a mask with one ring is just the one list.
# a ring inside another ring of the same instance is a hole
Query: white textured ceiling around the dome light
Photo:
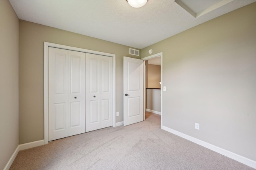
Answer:
[[[256, 0], [234, 0], [194, 18], [174, 0], [9, 0], [20, 20], [142, 49]], [[200, 1], [194, 0], [194, 5]], [[200, 4], [198, 4], [200, 5]]]

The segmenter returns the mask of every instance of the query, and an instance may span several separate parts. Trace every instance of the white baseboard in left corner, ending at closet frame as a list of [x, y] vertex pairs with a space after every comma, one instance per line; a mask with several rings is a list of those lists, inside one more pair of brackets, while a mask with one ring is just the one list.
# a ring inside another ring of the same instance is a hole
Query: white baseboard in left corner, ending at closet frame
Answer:
[[10, 169], [10, 167], [12, 165], [12, 162], [14, 161], [14, 159], [16, 158], [16, 156], [17, 156], [17, 154], [18, 154], [18, 152], [20, 150], [30, 149], [30, 148], [34, 148], [34, 147], [39, 147], [41, 145], [44, 145], [44, 140], [34, 141], [34, 142], [24, 143], [24, 144], [18, 145], [18, 147], [16, 148], [16, 150], [12, 154], [11, 158], [7, 162], [6, 166], [4, 167], [4, 170]]

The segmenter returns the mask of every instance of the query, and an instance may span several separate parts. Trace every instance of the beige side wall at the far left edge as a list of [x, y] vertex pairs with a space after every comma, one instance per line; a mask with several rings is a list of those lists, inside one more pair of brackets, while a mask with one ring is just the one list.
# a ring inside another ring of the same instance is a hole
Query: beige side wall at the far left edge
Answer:
[[0, 169], [19, 145], [19, 20], [8, 0], [0, 0]]

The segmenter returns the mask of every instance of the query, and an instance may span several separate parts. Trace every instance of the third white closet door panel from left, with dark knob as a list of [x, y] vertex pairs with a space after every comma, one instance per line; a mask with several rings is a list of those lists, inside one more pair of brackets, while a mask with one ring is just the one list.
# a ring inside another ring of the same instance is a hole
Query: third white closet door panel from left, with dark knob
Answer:
[[100, 55], [86, 53], [86, 128], [100, 129]]

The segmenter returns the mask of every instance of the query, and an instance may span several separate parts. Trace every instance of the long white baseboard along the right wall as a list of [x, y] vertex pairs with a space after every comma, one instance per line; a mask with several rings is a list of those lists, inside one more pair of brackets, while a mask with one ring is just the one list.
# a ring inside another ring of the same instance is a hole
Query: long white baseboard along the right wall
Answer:
[[238, 161], [238, 162], [241, 162], [242, 164], [246, 164], [246, 165], [248, 165], [248, 166], [250, 166], [250, 167], [256, 169], [256, 161], [254, 161], [254, 160], [248, 159], [248, 158], [246, 158], [246, 157], [244, 157], [244, 156], [238, 155], [238, 154], [236, 154], [236, 153], [230, 152], [230, 151], [225, 150], [225, 149], [222, 149], [222, 148], [220, 148], [220, 147], [216, 147], [215, 145], [212, 145], [212, 144], [210, 144], [210, 143], [201, 141], [201, 140], [199, 140], [199, 139], [196, 139], [196, 138], [191, 137], [191, 136], [189, 136], [189, 135], [186, 135], [186, 134], [184, 134], [184, 133], [175, 131], [175, 130], [173, 130], [173, 129], [170, 129], [169, 127], [162, 126], [161, 129], [163, 129], [163, 130], [165, 130], [165, 131], [168, 131], [168, 132], [170, 132], [170, 133], [173, 133], [174, 135], [178, 135], [179, 137], [182, 137], [182, 138], [184, 138], [184, 139], [187, 139], [187, 140], [189, 140], [189, 141], [191, 141], [191, 142], [194, 142], [194, 143], [196, 143], [196, 144], [198, 144], [198, 145], [201, 145], [201, 146], [203, 146], [203, 147], [206, 147], [206, 148], [208, 148], [208, 149], [210, 149], [210, 150], [213, 150], [213, 151], [215, 151], [215, 152], [218, 152], [218, 153], [220, 153], [220, 154], [222, 154], [222, 155], [224, 155], [224, 156], [227, 156], [227, 157], [229, 157], [229, 158], [231, 158], [231, 159], [234, 159], [234, 160], [236, 160], [236, 161]]

